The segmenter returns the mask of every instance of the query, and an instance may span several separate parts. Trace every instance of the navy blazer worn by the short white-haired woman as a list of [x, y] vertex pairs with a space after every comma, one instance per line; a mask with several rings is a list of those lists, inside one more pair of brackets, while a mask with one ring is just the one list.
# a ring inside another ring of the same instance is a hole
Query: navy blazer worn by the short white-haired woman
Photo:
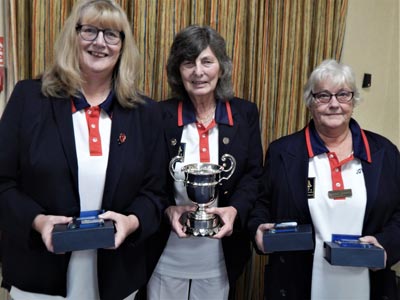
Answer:
[[[396, 299], [395, 274], [390, 266], [400, 260], [399, 151], [386, 138], [364, 133], [372, 162], [361, 161], [367, 189], [362, 235], [375, 236], [387, 253], [387, 268], [370, 272], [371, 299]], [[262, 223], [312, 223], [307, 200], [308, 161], [304, 130], [270, 144], [263, 175], [265, 194], [257, 200], [249, 221], [253, 238]], [[270, 254], [265, 269], [266, 299], [310, 299], [312, 255], [313, 251]]]

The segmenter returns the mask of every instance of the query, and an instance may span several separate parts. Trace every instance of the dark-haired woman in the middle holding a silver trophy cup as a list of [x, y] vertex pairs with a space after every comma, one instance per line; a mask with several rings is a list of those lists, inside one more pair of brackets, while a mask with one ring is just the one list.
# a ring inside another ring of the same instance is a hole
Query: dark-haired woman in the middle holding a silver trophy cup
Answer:
[[160, 105], [173, 202], [149, 250], [148, 299], [228, 299], [251, 255], [245, 226], [263, 156], [257, 107], [233, 96], [225, 41], [210, 27], [176, 35], [167, 74], [175, 97]]

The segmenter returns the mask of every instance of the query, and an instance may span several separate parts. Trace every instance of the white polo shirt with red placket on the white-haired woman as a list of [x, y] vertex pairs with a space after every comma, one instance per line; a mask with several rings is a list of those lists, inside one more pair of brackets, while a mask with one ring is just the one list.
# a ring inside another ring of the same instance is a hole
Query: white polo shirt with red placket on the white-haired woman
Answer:
[[[368, 268], [332, 266], [324, 259], [323, 243], [331, 241], [332, 234], [362, 235], [367, 192], [361, 159], [371, 158], [365, 135], [355, 121], [350, 129], [354, 153], [349, 153], [343, 161], [329, 152], [312, 123], [306, 129], [308, 178], [314, 182], [314, 197], [308, 199], [308, 205], [315, 228], [311, 290], [311, 298], [315, 300], [369, 299]], [[332, 196], [332, 191], [344, 190], [351, 190], [351, 196]]]

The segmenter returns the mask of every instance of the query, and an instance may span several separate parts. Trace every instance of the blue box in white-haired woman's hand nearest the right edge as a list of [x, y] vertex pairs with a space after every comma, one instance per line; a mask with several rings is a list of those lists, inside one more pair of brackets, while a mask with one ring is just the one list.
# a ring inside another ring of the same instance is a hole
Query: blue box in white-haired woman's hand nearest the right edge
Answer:
[[332, 235], [332, 242], [324, 242], [325, 259], [335, 266], [384, 268], [384, 250], [372, 244], [359, 242], [359, 237]]

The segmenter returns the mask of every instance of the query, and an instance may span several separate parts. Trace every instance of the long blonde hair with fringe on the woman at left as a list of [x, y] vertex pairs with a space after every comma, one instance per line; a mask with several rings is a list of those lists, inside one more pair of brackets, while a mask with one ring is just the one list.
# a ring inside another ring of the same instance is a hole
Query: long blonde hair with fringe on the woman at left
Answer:
[[54, 46], [54, 63], [42, 76], [42, 92], [46, 96], [76, 96], [83, 78], [79, 67], [79, 46], [76, 26], [96, 22], [104, 28], [124, 33], [121, 54], [114, 67], [113, 86], [118, 102], [132, 108], [142, 102], [138, 91], [139, 50], [133, 39], [128, 18], [112, 0], [82, 0], [75, 4]]

